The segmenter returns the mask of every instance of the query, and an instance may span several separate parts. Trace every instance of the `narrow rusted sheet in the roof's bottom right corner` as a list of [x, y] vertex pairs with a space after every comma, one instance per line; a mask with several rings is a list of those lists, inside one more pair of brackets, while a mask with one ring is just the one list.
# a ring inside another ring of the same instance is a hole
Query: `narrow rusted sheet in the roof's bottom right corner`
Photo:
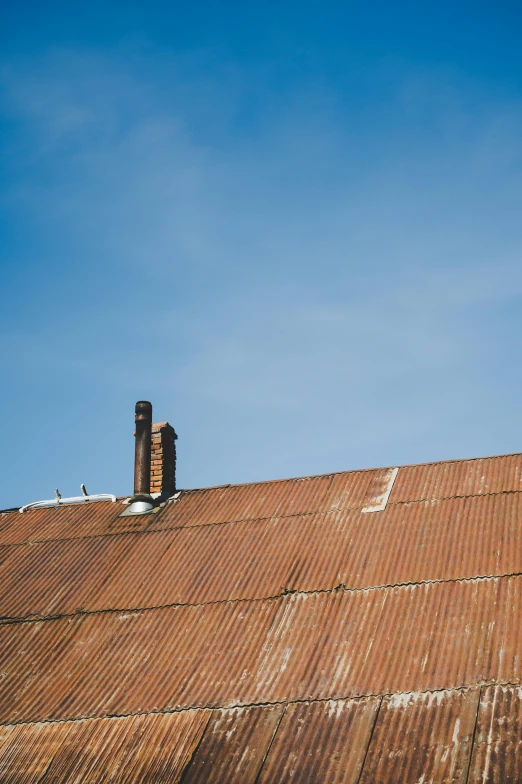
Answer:
[[522, 781], [522, 689], [483, 687], [469, 784]]

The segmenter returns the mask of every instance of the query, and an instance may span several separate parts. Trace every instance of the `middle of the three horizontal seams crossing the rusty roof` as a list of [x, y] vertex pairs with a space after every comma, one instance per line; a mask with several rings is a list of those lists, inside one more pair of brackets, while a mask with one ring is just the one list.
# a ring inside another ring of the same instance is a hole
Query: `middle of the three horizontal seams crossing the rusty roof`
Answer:
[[153, 606], [144, 607], [107, 607], [99, 610], [78, 610], [73, 613], [63, 613], [57, 615], [35, 615], [24, 617], [10, 617], [0, 616], [0, 626], [14, 626], [21, 623], [42, 623], [45, 621], [59, 621], [63, 618], [76, 618], [84, 617], [87, 615], [103, 615], [104, 613], [142, 613], [154, 612], [155, 610], [166, 610], [169, 607], [207, 607], [214, 604], [239, 604], [241, 602], [273, 602], [282, 599], [285, 596], [314, 596], [316, 594], [333, 594], [339, 591], [343, 593], [359, 594], [369, 593], [370, 591], [388, 591], [392, 588], [411, 588], [417, 585], [440, 585], [446, 583], [472, 583], [472, 582], [485, 582], [486, 580], [505, 580], [511, 577], [522, 577], [522, 572], [505, 572], [503, 574], [486, 574], [474, 575], [473, 577], [454, 577], [451, 580], [417, 580], [407, 581], [404, 583], [385, 583], [384, 585], [369, 585], [366, 588], [347, 588], [340, 583], [334, 585], [332, 588], [314, 588], [309, 591], [282, 591], [281, 593], [272, 594], [271, 596], [257, 596], [254, 598], [238, 598], [238, 599], [215, 599], [211, 602], [169, 602], [167, 604], [157, 604]]

